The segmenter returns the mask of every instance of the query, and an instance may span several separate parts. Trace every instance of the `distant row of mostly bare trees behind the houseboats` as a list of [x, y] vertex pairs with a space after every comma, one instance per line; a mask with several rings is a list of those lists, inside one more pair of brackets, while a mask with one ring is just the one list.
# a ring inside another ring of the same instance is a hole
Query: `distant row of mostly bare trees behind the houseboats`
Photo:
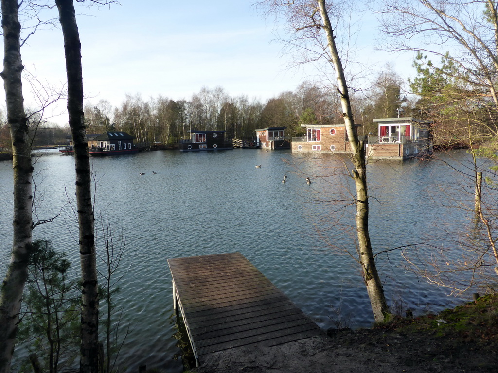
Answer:
[[[413, 116], [434, 120], [435, 144], [447, 143], [453, 137], [455, 125], [444, 124], [437, 115], [442, 110], [429, 111], [422, 103], [423, 94], [411, 100], [402, 94], [403, 80], [390, 66], [374, 77], [367, 91], [352, 93], [355, 124], [359, 135], [377, 133], [373, 118]], [[421, 91], [414, 83], [413, 92]], [[283, 92], [261, 102], [247, 95], [232, 97], [222, 87], [202, 88], [190, 100], [173, 100], [159, 95], [144, 100], [140, 94], [126, 94], [120, 106], [113, 107], [106, 99], [97, 103], [86, 101], [84, 107], [87, 133], [121, 130], [135, 137], [135, 143], [174, 145], [189, 138], [190, 130], [224, 130], [226, 138], [250, 141], [255, 129], [286, 127], [289, 137], [304, 136], [302, 125], [342, 124], [342, 109], [337, 91], [304, 82], [293, 92]], [[440, 115], [439, 115], [440, 116]], [[69, 128], [47, 124], [38, 118], [39, 125], [30, 123], [33, 146], [66, 144]], [[2, 120], [5, 123], [4, 120]], [[441, 140], [441, 141], [439, 141]], [[0, 126], [0, 151], [10, 148], [6, 124]]]

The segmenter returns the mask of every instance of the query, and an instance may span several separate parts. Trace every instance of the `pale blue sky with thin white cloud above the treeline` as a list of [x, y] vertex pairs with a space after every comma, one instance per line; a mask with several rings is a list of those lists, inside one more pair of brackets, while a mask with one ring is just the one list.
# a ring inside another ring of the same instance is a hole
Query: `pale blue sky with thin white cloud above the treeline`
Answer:
[[[158, 95], [188, 100], [203, 87], [218, 86], [230, 96], [245, 94], [265, 102], [294, 91], [316, 73], [311, 66], [289, 69], [292, 57], [282, 54], [283, 45], [274, 41], [273, 21], [265, 20], [251, 0], [121, 0], [90, 8], [75, 4], [84, 93], [92, 104], [105, 99], [120, 106], [126, 93], [140, 94], [144, 100]], [[364, 14], [355, 39], [356, 58], [376, 64], [367, 79], [386, 62], [403, 78], [413, 76], [412, 54], [393, 56], [373, 49], [375, 27], [374, 16]], [[44, 86], [64, 86], [60, 29], [38, 30], [21, 55], [26, 70]], [[34, 106], [30, 86], [24, 84], [23, 92], [25, 105]], [[46, 120], [66, 124], [65, 106], [59, 102], [46, 113]]]

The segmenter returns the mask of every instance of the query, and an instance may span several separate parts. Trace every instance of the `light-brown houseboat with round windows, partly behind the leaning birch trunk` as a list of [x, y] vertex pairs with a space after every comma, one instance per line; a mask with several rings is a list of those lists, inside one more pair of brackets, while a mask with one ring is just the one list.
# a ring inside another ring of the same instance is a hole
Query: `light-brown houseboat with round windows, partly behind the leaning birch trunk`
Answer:
[[292, 138], [293, 152], [346, 153], [349, 149], [344, 124], [301, 124], [301, 127], [306, 129], [306, 136]]

